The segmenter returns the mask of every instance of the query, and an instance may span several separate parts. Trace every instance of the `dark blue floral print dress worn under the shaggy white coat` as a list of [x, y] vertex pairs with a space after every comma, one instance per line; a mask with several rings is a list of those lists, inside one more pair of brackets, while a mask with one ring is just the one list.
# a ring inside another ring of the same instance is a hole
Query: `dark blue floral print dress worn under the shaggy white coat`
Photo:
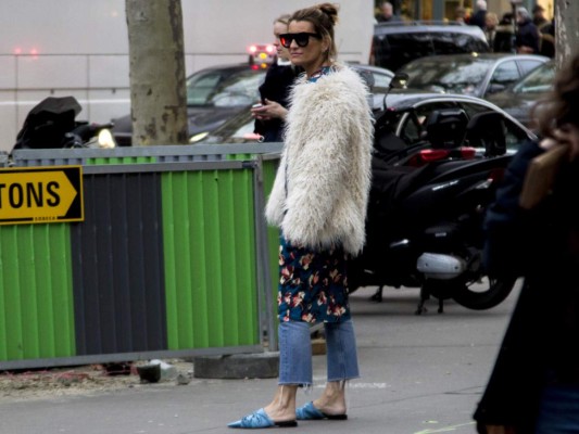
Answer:
[[[323, 67], [309, 81], [315, 82], [330, 72], [330, 67]], [[280, 321], [315, 323], [350, 319], [343, 248], [312, 251], [292, 245], [281, 235], [279, 276], [277, 302]]]

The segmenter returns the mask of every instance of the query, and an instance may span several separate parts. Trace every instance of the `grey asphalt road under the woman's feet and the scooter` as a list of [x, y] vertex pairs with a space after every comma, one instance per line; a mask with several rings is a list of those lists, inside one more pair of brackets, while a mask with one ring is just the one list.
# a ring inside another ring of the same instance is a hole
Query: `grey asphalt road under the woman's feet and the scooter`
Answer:
[[[475, 433], [473, 411], [488, 379], [518, 288], [500, 306], [475, 311], [452, 302], [445, 312], [415, 316], [417, 290], [374, 289], [352, 294], [362, 378], [348, 386], [348, 421], [305, 421], [294, 433]], [[314, 357], [315, 386], [324, 387], [325, 357]], [[236, 433], [226, 424], [263, 407], [275, 379], [202, 380], [85, 396], [0, 404], [2, 434]]]

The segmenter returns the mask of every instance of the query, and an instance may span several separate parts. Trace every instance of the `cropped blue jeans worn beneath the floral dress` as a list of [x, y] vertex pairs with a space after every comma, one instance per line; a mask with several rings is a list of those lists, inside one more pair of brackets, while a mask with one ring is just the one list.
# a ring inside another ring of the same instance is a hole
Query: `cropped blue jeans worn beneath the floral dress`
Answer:
[[[284, 321], [279, 324], [279, 384], [312, 385], [312, 340], [310, 324]], [[325, 322], [327, 381], [360, 376], [356, 339], [351, 319]]]

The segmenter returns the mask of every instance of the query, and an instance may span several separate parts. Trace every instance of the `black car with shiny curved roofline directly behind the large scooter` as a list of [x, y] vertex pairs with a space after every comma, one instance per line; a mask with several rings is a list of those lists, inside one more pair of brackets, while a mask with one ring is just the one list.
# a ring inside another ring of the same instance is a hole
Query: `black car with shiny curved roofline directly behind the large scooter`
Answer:
[[[386, 97], [386, 102], [385, 102]], [[380, 111], [375, 112], [375, 146], [378, 152], [398, 152], [424, 140], [426, 120], [432, 112], [443, 108], [462, 108], [469, 119], [477, 113], [495, 112], [505, 118], [507, 152], [514, 152], [526, 139], [534, 135], [518, 120], [489, 101], [464, 94], [419, 92], [410, 89], [392, 89], [388, 94], [375, 95], [382, 101]], [[199, 143], [248, 143], [257, 142], [253, 133], [253, 118], [249, 113], [239, 113]], [[482, 152], [482, 150], [480, 150]]]

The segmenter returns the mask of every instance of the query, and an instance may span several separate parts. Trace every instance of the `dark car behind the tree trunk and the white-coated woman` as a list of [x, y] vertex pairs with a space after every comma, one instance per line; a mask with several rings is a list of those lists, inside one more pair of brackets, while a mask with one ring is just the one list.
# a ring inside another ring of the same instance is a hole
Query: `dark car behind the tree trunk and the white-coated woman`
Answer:
[[[377, 89], [387, 89], [391, 71], [351, 63], [351, 67]], [[187, 78], [187, 115], [192, 142], [205, 137], [237, 114], [249, 112], [260, 100], [259, 87], [267, 68], [254, 63], [221, 65], [201, 69]], [[382, 90], [383, 92], [383, 90]], [[379, 101], [376, 102], [379, 104]], [[113, 119], [113, 137], [119, 146], [131, 145], [130, 115]]]

